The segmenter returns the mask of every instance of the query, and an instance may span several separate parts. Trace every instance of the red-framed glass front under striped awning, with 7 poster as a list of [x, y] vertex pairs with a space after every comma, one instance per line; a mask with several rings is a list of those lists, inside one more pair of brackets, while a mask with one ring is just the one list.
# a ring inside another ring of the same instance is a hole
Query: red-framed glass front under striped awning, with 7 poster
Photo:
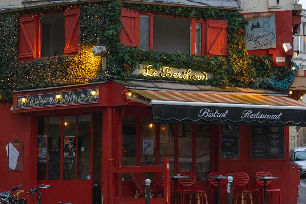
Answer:
[[[189, 171], [201, 180], [210, 171], [209, 125], [154, 124], [150, 117], [125, 117], [122, 129], [122, 166], [162, 165], [168, 157], [170, 175]], [[154, 179], [154, 174], [146, 176]]]

